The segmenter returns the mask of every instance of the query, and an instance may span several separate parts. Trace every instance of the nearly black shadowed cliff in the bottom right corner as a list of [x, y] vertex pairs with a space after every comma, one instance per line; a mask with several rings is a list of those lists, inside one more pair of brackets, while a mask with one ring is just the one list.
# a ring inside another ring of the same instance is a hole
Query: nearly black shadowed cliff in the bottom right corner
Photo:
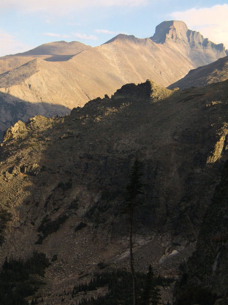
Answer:
[[228, 162], [209, 206], [197, 242], [177, 285], [178, 305], [227, 304], [228, 283]]

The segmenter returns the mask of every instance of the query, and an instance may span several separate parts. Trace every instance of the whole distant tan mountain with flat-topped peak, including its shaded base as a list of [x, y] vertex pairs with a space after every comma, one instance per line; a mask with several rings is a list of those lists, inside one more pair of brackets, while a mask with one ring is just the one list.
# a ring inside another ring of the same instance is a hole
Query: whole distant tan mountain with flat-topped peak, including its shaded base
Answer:
[[168, 86], [224, 56], [223, 44], [210, 42], [182, 21], [164, 21], [150, 38], [120, 34], [94, 48], [60, 41], [1, 57], [0, 132], [36, 114], [69, 113], [126, 83], [149, 78]]

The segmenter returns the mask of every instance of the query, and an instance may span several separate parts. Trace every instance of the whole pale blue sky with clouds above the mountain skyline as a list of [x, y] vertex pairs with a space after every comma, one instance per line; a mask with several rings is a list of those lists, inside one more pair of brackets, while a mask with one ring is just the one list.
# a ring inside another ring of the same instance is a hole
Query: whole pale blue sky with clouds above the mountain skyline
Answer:
[[52, 41], [97, 46], [120, 33], [151, 37], [165, 20], [182, 20], [228, 48], [227, 0], [0, 0], [0, 56]]

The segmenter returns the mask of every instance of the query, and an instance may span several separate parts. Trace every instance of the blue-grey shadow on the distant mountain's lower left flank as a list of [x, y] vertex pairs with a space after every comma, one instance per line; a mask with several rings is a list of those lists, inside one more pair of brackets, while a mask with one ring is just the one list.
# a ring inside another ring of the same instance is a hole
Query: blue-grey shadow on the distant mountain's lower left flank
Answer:
[[5, 130], [18, 120], [25, 122], [34, 115], [52, 117], [69, 112], [70, 109], [62, 105], [44, 102], [30, 103], [10, 94], [0, 93], [0, 140], [2, 141]]

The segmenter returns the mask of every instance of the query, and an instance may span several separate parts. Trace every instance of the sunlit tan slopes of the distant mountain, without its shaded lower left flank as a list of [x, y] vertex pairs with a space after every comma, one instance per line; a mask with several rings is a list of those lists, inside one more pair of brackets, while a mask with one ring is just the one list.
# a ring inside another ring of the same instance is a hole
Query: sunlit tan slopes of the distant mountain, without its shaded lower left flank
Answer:
[[[37, 55], [36, 69], [25, 73], [25, 68], [31, 65], [27, 64], [0, 75], [2, 97], [5, 102], [10, 102], [8, 98], [11, 96], [17, 101], [24, 100], [35, 104], [44, 102], [72, 109], [83, 106], [89, 100], [102, 97], [104, 94], [111, 96], [126, 83], [140, 83], [150, 78], [166, 87], [186, 75], [189, 70], [225, 56], [224, 49], [220, 47], [215, 49], [212, 43], [198, 44], [199, 39], [204, 41], [202, 36], [196, 40], [196, 35], [193, 35], [190, 45], [186, 36], [185, 23], [167, 22], [162, 23], [166, 25], [165, 33], [168, 31], [169, 34], [166, 34], [172, 37], [175, 32], [176, 38], [180, 36], [184, 39], [171, 38], [160, 44], [149, 38], [138, 39], [121, 34], [101, 46], [92, 48], [83, 45], [87, 49], [77, 54], [64, 55], [59, 51], [60, 55], [53, 55], [58, 52], [50, 51], [52, 55], [39, 55], [40, 57]], [[156, 35], [158, 37], [158, 29]], [[54, 49], [56, 44], [63, 44], [64, 49], [72, 43], [57, 42], [52, 43], [51, 46], [53, 44]], [[75, 43], [72, 45], [74, 48]], [[50, 44], [45, 47], [47, 46], [49, 48]], [[37, 48], [35, 48], [36, 51]], [[30, 57], [17, 55], [10, 57], [10, 60], [15, 59], [17, 64], [20, 58], [35, 59], [33, 55]], [[6, 93], [9, 95], [4, 95]], [[6, 111], [9, 112], [8, 109]], [[8, 114], [10, 115], [14, 116], [13, 113]], [[1, 114], [0, 120], [3, 120]], [[15, 121], [12, 119], [13, 123]]]

